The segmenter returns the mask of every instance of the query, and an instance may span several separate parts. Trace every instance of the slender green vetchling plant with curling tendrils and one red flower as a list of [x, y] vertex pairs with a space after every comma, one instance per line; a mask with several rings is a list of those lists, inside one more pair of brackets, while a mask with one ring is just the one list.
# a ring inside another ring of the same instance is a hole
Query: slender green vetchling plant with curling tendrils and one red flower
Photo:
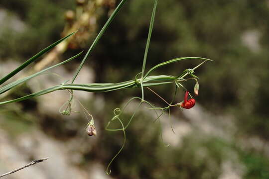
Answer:
[[[196, 95], [198, 95], [198, 90], [199, 90], [199, 83], [198, 83], [198, 77], [194, 75], [194, 71], [200, 67], [204, 62], [206, 61], [210, 61], [209, 59], [206, 58], [201, 58], [201, 57], [181, 57], [181, 58], [176, 58], [176, 59], [172, 59], [169, 61], [165, 61], [162, 62], [160, 64], [155, 65], [154, 67], [152, 67], [151, 69], [149, 69], [147, 72], [145, 72], [145, 64], [146, 64], [146, 59], [147, 59], [147, 52], [148, 52], [148, 48], [149, 48], [149, 43], [150, 43], [150, 38], [151, 38], [151, 33], [152, 33], [152, 28], [153, 28], [153, 22], [154, 22], [154, 17], [155, 17], [155, 12], [156, 12], [156, 6], [157, 6], [157, 1], [154, 1], [154, 6], [153, 6], [153, 11], [151, 14], [151, 20], [150, 20], [150, 25], [149, 25], [149, 30], [148, 30], [148, 36], [147, 36], [147, 41], [146, 41], [146, 46], [145, 46], [145, 52], [144, 52], [144, 58], [143, 58], [143, 63], [142, 63], [142, 70], [139, 74], [137, 74], [135, 76], [134, 80], [130, 80], [130, 81], [126, 81], [126, 82], [121, 82], [121, 83], [117, 83], [117, 84], [111, 84], [111, 83], [103, 83], [103, 84], [74, 84], [75, 79], [77, 78], [81, 68], [83, 67], [85, 61], [87, 60], [87, 58], [91, 55], [93, 49], [95, 48], [95, 46], [97, 45], [97, 43], [99, 42], [100, 38], [103, 36], [104, 32], [107, 30], [107, 28], [109, 27], [110, 23], [112, 22], [112, 20], [115, 18], [115, 16], [117, 15], [117, 13], [119, 12], [119, 10], [122, 8], [122, 6], [124, 5], [124, 3], [127, 0], [122, 0], [119, 5], [116, 7], [116, 9], [114, 10], [114, 12], [112, 13], [112, 15], [109, 17], [109, 19], [107, 20], [107, 22], [105, 23], [105, 25], [103, 26], [103, 28], [101, 29], [101, 31], [99, 32], [99, 34], [97, 35], [97, 37], [95, 38], [94, 42], [92, 43], [92, 45], [90, 46], [89, 50], [87, 51], [87, 53], [85, 54], [80, 66], [78, 67], [77, 71], [75, 72], [72, 80], [66, 80], [65, 82], [63, 82], [62, 84], [50, 87], [48, 89], [43, 89], [16, 99], [12, 99], [12, 100], [7, 100], [7, 101], [2, 101], [0, 102], [0, 105], [2, 104], [8, 104], [8, 103], [12, 103], [12, 102], [18, 102], [18, 101], [22, 101], [22, 100], [26, 100], [32, 97], [36, 97], [36, 96], [40, 96], [40, 95], [44, 95], [50, 92], [53, 92], [55, 90], [68, 90], [70, 93], [70, 98], [68, 99], [68, 101], [63, 104], [62, 107], [60, 107], [60, 112], [63, 115], [70, 115], [71, 111], [72, 111], [72, 102], [75, 99], [74, 98], [74, 94], [73, 94], [73, 90], [84, 90], [84, 91], [88, 91], [88, 92], [106, 92], [106, 91], [112, 91], [112, 90], [120, 90], [120, 89], [130, 89], [130, 88], [139, 88], [141, 89], [141, 97], [135, 96], [133, 98], [131, 98], [126, 104], [125, 106], [120, 109], [120, 108], [116, 108], [114, 109], [114, 117], [108, 122], [107, 126], [106, 126], [106, 130], [108, 131], [123, 131], [124, 134], [124, 142], [123, 145], [121, 147], [121, 149], [119, 150], [119, 152], [114, 156], [114, 158], [111, 160], [111, 162], [109, 163], [108, 167], [107, 167], [107, 174], [110, 174], [110, 170], [109, 167], [111, 165], [111, 163], [113, 162], [113, 160], [118, 156], [118, 154], [122, 151], [124, 145], [125, 145], [125, 141], [126, 141], [126, 133], [125, 130], [127, 129], [127, 127], [130, 125], [132, 119], [135, 116], [135, 113], [137, 112], [138, 108], [141, 106], [142, 103], [146, 103], [149, 105], [149, 110], [152, 109], [155, 111], [156, 113], [156, 120], [159, 120], [161, 115], [164, 114], [166, 111], [169, 114], [169, 118], [170, 118], [170, 107], [174, 107], [174, 106], [179, 106], [181, 108], [186, 108], [189, 109], [191, 107], [193, 107], [195, 105], [195, 99], [193, 99], [191, 97], [191, 99], [188, 99], [188, 95], [191, 96], [191, 94], [188, 92], [187, 89], [184, 88], [184, 86], [182, 85], [182, 82], [187, 82], [188, 80], [195, 80], [196, 81], [196, 85], [194, 87], [194, 93]], [[41, 55], [45, 54], [46, 52], [48, 52], [49, 50], [51, 50], [54, 46], [56, 46], [57, 44], [59, 44], [60, 42], [62, 42], [63, 40], [67, 39], [68, 37], [72, 36], [74, 33], [73, 32], [71, 34], [69, 34], [68, 36], [58, 40], [57, 42], [51, 44], [50, 46], [46, 47], [45, 49], [43, 49], [42, 51], [40, 51], [39, 53], [37, 53], [35, 56], [31, 57], [30, 59], [28, 59], [26, 62], [24, 62], [23, 64], [21, 64], [18, 68], [16, 68], [15, 70], [13, 70], [11, 73], [9, 73], [8, 75], [6, 75], [5, 77], [3, 77], [2, 79], [0, 79], [0, 85], [2, 85], [4, 82], [6, 82], [8, 79], [12, 78], [14, 75], [16, 75], [18, 72], [20, 72], [21, 70], [23, 70], [25, 67], [27, 67], [29, 64], [31, 64], [32, 62], [34, 62], [35, 60], [38, 59], [38, 57], [40, 57]], [[41, 70], [33, 75], [24, 77], [22, 79], [19, 79], [17, 81], [14, 81], [12, 83], [9, 83], [3, 87], [0, 87], [0, 94], [13, 89], [15, 87], [17, 87], [20, 84], [23, 84], [25, 82], [27, 82], [28, 80], [41, 75], [42, 73], [63, 65], [67, 62], [70, 62], [71, 60], [79, 57], [83, 52], [80, 52], [79, 54], [61, 62], [58, 63], [54, 66], [51, 66], [49, 68], [46, 68], [44, 70]], [[172, 64], [172, 63], [176, 63], [182, 60], [188, 60], [188, 59], [196, 59], [196, 60], [202, 60], [202, 62], [200, 64], [198, 64], [196, 67], [192, 68], [192, 69], [186, 69], [184, 70], [181, 74], [179, 74], [178, 76], [171, 76], [171, 75], [158, 75], [158, 76], [149, 76], [153, 71], [155, 71], [156, 69], [166, 66], [168, 64]], [[151, 86], [158, 86], [158, 85], [166, 85], [166, 84], [175, 84], [175, 93], [174, 93], [174, 97], [173, 100], [168, 103], [165, 99], [163, 99], [160, 95], [158, 95], [156, 92], [154, 92], [152, 89], [150, 89], [149, 87]], [[146, 101], [144, 99], [144, 88], [149, 89], [150, 91], [152, 91], [154, 94], [156, 94], [160, 99], [162, 99], [165, 103], [167, 103], [166, 107], [156, 107], [153, 104], [151, 104], [149, 101]], [[178, 102], [173, 104], [175, 96], [177, 94], [177, 89], [179, 88], [183, 88], [186, 90], [185, 92], [185, 97], [184, 97], [184, 101], [182, 102]], [[138, 103], [138, 105], [135, 107], [133, 115], [131, 116], [131, 118], [129, 119], [128, 123], [126, 125], [123, 124], [122, 119], [121, 119], [121, 115], [123, 114], [123, 112], [125, 111], [126, 107], [128, 106], [128, 104], [130, 104], [134, 99], [138, 99], [140, 102]], [[79, 101], [78, 101], [79, 102]], [[79, 102], [80, 103], [80, 102]], [[81, 104], [81, 103], [80, 103]], [[81, 104], [83, 111], [85, 112], [86, 117], [90, 116], [91, 119], [87, 119], [89, 120], [89, 123], [87, 125], [87, 134], [92, 136], [92, 135], [96, 135], [96, 130], [95, 130], [95, 126], [94, 126], [94, 119], [93, 116], [87, 112], [86, 108]], [[160, 111], [160, 114], [157, 111]], [[111, 124], [112, 121], [114, 120], [118, 120], [121, 124], [121, 128], [118, 129], [110, 129], [109, 126]], [[171, 126], [172, 127], [172, 126]]]

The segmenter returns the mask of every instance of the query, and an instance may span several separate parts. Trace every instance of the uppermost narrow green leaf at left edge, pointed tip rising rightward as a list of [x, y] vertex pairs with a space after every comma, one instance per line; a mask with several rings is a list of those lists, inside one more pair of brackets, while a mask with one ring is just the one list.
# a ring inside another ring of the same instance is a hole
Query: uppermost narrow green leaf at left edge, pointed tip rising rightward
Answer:
[[34, 62], [38, 57], [40, 57], [41, 55], [45, 54], [47, 51], [49, 51], [51, 48], [55, 47], [57, 44], [59, 44], [60, 42], [62, 42], [63, 40], [65, 40], [66, 38], [70, 37], [71, 35], [73, 35], [74, 33], [76, 33], [77, 31], [65, 36], [64, 38], [58, 40], [57, 42], [54, 42], [53, 44], [51, 44], [50, 46], [46, 47], [45, 49], [41, 50], [40, 52], [38, 52], [35, 56], [31, 57], [30, 59], [28, 59], [26, 62], [24, 62], [23, 64], [21, 64], [18, 68], [16, 68], [15, 70], [13, 70], [12, 72], [10, 72], [8, 75], [6, 75], [5, 77], [3, 77], [0, 80], [0, 85], [2, 85], [4, 82], [6, 82], [8, 79], [10, 79], [11, 77], [13, 77], [14, 75], [16, 75], [19, 71], [21, 71], [22, 69], [24, 69], [25, 67], [27, 67], [30, 63]]

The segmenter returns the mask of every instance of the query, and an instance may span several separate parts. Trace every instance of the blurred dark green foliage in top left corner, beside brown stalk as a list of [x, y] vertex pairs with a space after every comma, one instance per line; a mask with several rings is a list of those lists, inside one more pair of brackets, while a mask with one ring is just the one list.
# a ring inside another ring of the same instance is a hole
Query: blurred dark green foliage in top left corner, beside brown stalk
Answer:
[[1, 0], [0, 6], [17, 15], [26, 29], [20, 33], [4, 29], [0, 35], [0, 57], [24, 61], [59, 39], [65, 23], [64, 11], [74, 5], [73, 0]]

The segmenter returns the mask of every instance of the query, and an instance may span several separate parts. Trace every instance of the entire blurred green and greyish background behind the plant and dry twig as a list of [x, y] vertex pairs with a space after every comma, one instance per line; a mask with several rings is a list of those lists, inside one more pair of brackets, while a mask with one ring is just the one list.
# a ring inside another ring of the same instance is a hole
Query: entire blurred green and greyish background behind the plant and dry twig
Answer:
[[[119, 0], [0, 0], [0, 77], [41, 49], [79, 30], [8, 82], [87, 51]], [[129, 0], [116, 16], [76, 84], [118, 83], [141, 71], [154, 0]], [[142, 106], [123, 133], [106, 131], [113, 109], [140, 96], [140, 89], [106, 93], [75, 91], [94, 116], [97, 136], [78, 103], [70, 116], [58, 109], [67, 91], [56, 91], [0, 107], [0, 174], [32, 160], [46, 162], [7, 179], [269, 179], [269, 1], [159, 0], [146, 69], [176, 57], [214, 60], [195, 71], [200, 80], [197, 104], [171, 108], [160, 125]], [[71, 79], [82, 57], [57, 67], [0, 96], [1, 101]], [[200, 61], [186, 60], [152, 75], [179, 75]], [[57, 75], [56, 75], [57, 74]], [[195, 82], [184, 83], [192, 91]], [[170, 101], [173, 85], [152, 87]], [[176, 102], [183, 99], [179, 90]], [[165, 103], [145, 90], [145, 99]], [[138, 101], [127, 108], [132, 115]], [[117, 123], [114, 127], [120, 127]], [[170, 144], [165, 147], [165, 144]]]

